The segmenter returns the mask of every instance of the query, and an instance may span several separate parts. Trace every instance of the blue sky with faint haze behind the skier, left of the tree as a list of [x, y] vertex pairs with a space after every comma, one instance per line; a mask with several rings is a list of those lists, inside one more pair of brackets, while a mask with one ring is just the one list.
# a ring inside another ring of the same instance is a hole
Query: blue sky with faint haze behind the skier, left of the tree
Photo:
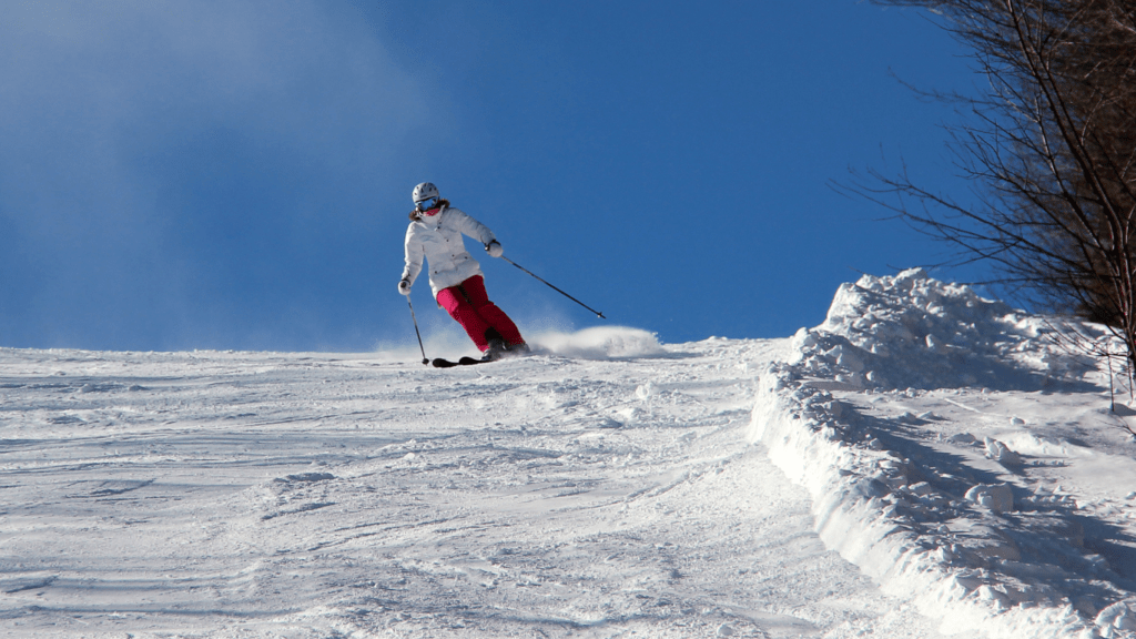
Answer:
[[[410, 190], [666, 342], [791, 334], [943, 248], [828, 186], [950, 176], [919, 13], [853, 0], [19, 2], [0, 22], [0, 346], [414, 342]], [[467, 243], [476, 248], [473, 241]], [[501, 260], [523, 331], [603, 325]], [[951, 277], [951, 273], [938, 274]], [[426, 332], [451, 321], [425, 282]], [[446, 354], [431, 354], [446, 355]]]

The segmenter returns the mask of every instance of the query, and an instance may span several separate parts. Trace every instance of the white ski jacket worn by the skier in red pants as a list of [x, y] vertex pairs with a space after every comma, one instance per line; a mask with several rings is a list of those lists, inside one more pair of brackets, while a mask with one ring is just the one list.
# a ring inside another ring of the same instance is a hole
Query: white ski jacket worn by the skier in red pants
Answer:
[[402, 279], [414, 284], [423, 269], [423, 258], [429, 268], [429, 287], [434, 297], [442, 289], [456, 287], [474, 275], [482, 275], [477, 260], [466, 251], [465, 233], [483, 244], [496, 238], [484, 224], [461, 209], [444, 207], [437, 215], [420, 216], [407, 227], [407, 266]]

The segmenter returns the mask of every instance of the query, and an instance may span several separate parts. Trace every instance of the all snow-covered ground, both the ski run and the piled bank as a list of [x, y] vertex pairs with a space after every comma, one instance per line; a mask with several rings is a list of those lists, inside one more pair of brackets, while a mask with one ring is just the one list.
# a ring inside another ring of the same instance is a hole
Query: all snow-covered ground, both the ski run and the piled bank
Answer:
[[787, 339], [451, 370], [0, 349], [0, 629], [1136, 637], [1110, 339], [916, 269]]

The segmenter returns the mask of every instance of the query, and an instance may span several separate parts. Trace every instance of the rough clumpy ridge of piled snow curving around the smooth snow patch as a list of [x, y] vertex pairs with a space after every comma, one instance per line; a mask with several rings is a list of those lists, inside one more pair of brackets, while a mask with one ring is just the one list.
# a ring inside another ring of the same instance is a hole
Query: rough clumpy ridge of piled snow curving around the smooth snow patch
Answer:
[[[1044, 338], [1081, 324], [1029, 316], [921, 269], [844, 284], [828, 317], [802, 329], [790, 358], [760, 380], [749, 430], [813, 499], [826, 545], [950, 620], [989, 637], [1128, 637], [1136, 616], [1117, 575], [1086, 550], [1068, 511], [1022, 504], [1006, 484], [960, 486], [880, 442], [847, 399], [917, 389], [1077, 389], [1092, 362]], [[842, 395], [843, 393], [843, 395]], [[908, 416], [909, 420], [918, 420]], [[978, 443], [975, 442], [977, 446]], [[1016, 454], [984, 442], [1006, 467]], [[1020, 458], [1017, 459], [1020, 463]]]

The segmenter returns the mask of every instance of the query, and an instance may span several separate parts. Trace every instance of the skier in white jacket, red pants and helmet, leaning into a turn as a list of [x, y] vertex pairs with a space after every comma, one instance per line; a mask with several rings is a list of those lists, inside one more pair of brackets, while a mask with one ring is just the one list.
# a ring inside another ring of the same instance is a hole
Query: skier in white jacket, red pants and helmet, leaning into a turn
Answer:
[[423, 182], [415, 186], [407, 227], [407, 266], [402, 269], [399, 292], [409, 296], [423, 268], [429, 263], [429, 285], [438, 306], [466, 330], [482, 351], [482, 360], [493, 362], [506, 354], [528, 352], [528, 346], [512, 320], [490, 301], [481, 266], [466, 251], [461, 234], [485, 244], [491, 257], [503, 250], [493, 232], [481, 222], [450, 206], [438, 196], [437, 186]]

